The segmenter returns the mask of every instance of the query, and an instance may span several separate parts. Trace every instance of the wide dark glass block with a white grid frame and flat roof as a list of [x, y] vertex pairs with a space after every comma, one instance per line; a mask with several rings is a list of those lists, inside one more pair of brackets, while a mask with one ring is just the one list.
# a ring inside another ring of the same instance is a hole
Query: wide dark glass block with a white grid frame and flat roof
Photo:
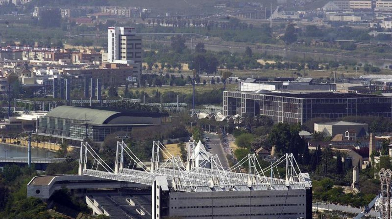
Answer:
[[337, 92], [224, 91], [223, 114], [265, 115], [274, 122], [305, 123], [316, 117], [379, 116], [392, 118], [392, 98]]

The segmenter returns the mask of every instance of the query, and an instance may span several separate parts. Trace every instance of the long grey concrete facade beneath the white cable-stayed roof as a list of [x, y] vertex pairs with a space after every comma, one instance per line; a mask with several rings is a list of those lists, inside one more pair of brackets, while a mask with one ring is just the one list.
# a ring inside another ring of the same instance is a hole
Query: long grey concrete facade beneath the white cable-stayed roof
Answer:
[[216, 187], [205, 192], [171, 192], [169, 215], [192, 219], [289, 219], [311, 215], [307, 209], [311, 189], [252, 190], [244, 186], [243, 191], [225, 191]]

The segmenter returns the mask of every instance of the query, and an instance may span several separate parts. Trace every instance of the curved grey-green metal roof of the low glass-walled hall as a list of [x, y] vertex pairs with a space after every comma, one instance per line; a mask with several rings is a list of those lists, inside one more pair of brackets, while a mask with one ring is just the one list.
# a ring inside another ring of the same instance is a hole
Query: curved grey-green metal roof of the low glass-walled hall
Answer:
[[89, 124], [103, 125], [116, 114], [122, 113], [85, 107], [59, 106], [49, 111], [46, 116], [78, 120], [85, 120], [87, 118], [87, 123]]

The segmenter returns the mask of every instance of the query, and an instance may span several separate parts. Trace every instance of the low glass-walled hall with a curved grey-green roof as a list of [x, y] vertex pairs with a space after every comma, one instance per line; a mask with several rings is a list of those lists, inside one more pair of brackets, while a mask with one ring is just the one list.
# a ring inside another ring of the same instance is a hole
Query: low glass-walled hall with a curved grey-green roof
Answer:
[[136, 110], [108, 110], [95, 107], [56, 107], [41, 116], [38, 135], [82, 141], [87, 137], [95, 142], [115, 132], [130, 132], [134, 127], [161, 124], [160, 113]]

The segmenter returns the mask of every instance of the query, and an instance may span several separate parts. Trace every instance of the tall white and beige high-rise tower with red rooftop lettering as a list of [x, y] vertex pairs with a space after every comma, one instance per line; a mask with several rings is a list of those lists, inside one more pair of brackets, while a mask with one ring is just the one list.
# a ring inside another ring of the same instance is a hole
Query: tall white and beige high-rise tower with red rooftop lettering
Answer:
[[134, 27], [108, 27], [107, 44], [109, 63], [133, 61], [134, 71], [142, 72], [142, 37]]

